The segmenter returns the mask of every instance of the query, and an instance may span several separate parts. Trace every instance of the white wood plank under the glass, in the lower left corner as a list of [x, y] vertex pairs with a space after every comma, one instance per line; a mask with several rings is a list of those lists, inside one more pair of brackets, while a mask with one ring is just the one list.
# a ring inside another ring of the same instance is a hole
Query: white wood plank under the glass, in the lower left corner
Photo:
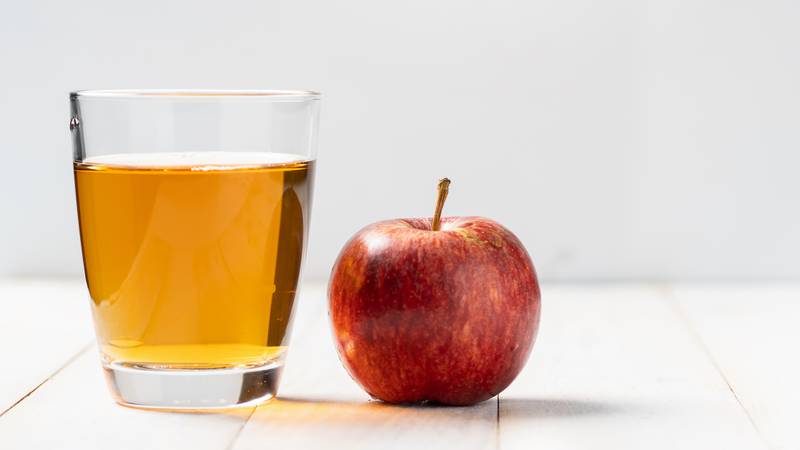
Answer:
[[0, 419], [3, 448], [222, 450], [252, 408], [220, 414], [143, 411], [117, 405], [94, 347]]

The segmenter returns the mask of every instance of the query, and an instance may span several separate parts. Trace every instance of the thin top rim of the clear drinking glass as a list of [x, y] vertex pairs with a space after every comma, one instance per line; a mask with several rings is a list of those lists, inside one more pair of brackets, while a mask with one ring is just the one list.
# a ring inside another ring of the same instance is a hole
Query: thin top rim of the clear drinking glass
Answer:
[[71, 91], [69, 98], [135, 100], [258, 99], [265, 101], [306, 101], [322, 97], [319, 91], [279, 89], [88, 89]]

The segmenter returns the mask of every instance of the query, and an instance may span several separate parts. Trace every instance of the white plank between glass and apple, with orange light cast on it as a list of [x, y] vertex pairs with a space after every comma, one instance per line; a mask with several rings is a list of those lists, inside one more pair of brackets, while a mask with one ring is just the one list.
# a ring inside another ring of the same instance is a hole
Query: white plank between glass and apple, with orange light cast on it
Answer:
[[324, 290], [303, 300], [279, 398], [256, 410], [235, 449], [494, 448], [495, 399], [467, 408], [370, 401], [336, 356]]

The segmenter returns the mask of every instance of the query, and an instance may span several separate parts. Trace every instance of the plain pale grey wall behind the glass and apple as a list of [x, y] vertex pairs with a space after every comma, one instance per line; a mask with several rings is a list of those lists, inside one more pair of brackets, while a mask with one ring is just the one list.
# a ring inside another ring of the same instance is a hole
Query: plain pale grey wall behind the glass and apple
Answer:
[[0, 275], [81, 273], [67, 93], [324, 93], [306, 278], [367, 223], [492, 217], [545, 280], [800, 278], [800, 3], [9, 1]]

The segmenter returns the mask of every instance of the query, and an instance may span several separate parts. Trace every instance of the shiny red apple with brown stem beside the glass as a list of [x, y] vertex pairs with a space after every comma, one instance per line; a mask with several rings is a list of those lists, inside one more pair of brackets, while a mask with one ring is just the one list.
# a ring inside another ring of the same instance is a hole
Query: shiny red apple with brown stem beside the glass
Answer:
[[336, 349], [372, 397], [470, 405], [522, 370], [539, 326], [522, 243], [481, 217], [374, 223], [337, 259], [328, 289]]

